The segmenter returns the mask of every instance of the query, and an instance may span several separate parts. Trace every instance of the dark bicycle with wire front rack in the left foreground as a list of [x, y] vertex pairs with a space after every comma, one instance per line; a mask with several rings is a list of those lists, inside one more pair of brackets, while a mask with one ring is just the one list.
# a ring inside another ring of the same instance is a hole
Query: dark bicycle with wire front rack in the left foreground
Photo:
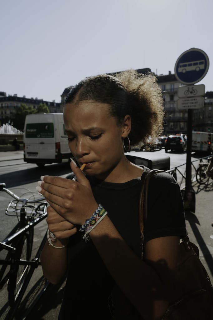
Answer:
[[[0, 191], [4, 191], [14, 200], [8, 204], [5, 214], [16, 216], [18, 223], [0, 242], [0, 252], [6, 251], [5, 259], [0, 260], [0, 289], [7, 285], [8, 306], [0, 310], [5, 320], [25, 319], [41, 294], [47, 289], [49, 282], [42, 276], [36, 284], [36, 296], [30, 299], [32, 292], [26, 296], [27, 288], [36, 268], [41, 265], [39, 258], [46, 242], [46, 233], [34, 257], [31, 259], [34, 239], [34, 227], [47, 217], [47, 202], [44, 197], [20, 198], [0, 183]], [[38, 194], [36, 194], [38, 196]], [[39, 195], [40, 196], [40, 195]], [[40, 287], [39, 287], [39, 286]], [[39, 290], [38, 290], [39, 288]], [[33, 290], [35, 295], [35, 292]], [[9, 310], [7, 311], [6, 309]]]

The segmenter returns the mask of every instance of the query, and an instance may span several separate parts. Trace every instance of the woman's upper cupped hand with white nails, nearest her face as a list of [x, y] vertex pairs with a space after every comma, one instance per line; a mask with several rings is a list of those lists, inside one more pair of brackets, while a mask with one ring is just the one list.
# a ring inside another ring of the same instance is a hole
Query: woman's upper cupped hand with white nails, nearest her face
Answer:
[[78, 181], [44, 176], [37, 190], [62, 218], [72, 225], [82, 225], [95, 212], [98, 204], [84, 173], [72, 163], [71, 169]]

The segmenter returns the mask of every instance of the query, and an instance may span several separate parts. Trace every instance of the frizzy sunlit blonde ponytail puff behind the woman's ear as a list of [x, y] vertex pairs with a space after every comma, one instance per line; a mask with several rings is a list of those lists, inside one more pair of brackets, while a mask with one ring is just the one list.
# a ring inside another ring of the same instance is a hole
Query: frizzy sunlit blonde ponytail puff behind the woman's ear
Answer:
[[132, 109], [130, 141], [139, 146], [153, 143], [162, 134], [164, 120], [162, 91], [156, 76], [127, 70], [116, 77], [125, 88]]

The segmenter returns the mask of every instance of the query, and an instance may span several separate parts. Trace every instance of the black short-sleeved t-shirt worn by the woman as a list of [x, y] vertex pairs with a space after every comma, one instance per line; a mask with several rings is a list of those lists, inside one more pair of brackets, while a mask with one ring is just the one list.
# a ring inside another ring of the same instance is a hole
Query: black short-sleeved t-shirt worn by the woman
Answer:
[[[88, 177], [95, 200], [102, 204], [120, 235], [141, 257], [139, 196], [148, 168], [140, 178], [125, 183], [110, 183]], [[185, 236], [185, 215], [178, 183], [166, 173], [150, 180], [148, 218], [144, 226], [144, 244], [162, 236]], [[110, 319], [110, 294], [115, 285], [92, 241], [85, 243], [82, 233], [70, 238], [69, 266], [60, 320], [83, 319], [85, 312], [93, 319]]]

